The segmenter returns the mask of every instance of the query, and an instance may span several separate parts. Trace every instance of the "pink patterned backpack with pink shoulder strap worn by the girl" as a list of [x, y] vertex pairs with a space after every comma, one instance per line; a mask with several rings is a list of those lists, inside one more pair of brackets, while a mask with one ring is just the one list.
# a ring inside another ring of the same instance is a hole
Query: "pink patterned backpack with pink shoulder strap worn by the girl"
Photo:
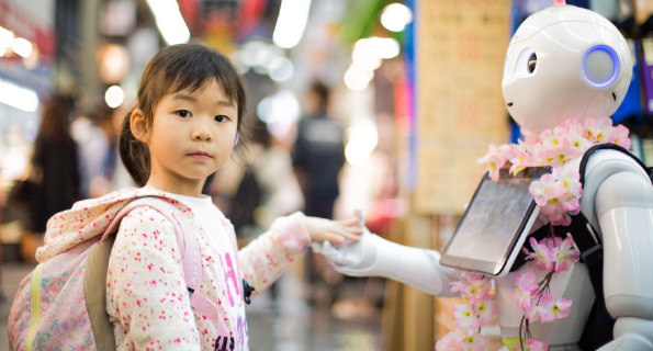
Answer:
[[[215, 304], [194, 293], [202, 267], [188, 218], [165, 199], [140, 197], [117, 213], [102, 237], [81, 241], [23, 279], [9, 316], [11, 350], [115, 350], [106, 314], [109, 257], [121, 219], [140, 206], [158, 211], [174, 225], [191, 307], [215, 320], [221, 335], [229, 335]], [[237, 252], [234, 238], [232, 245]]]

